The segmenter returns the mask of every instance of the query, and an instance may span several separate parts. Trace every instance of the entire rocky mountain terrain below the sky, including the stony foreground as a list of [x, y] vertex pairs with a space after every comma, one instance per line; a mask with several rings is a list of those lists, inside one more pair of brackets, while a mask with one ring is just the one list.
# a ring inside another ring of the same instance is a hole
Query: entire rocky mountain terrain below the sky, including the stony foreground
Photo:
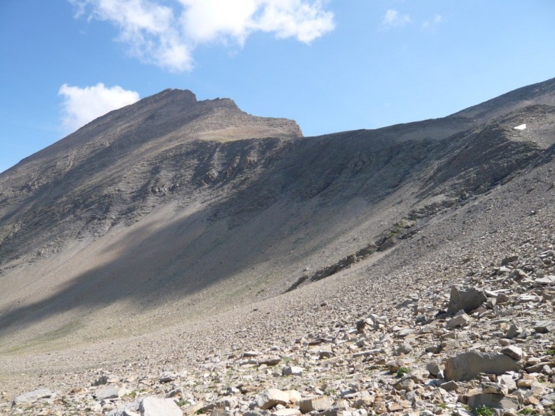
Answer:
[[555, 79], [302, 137], [166, 90], [0, 174], [0, 414], [554, 415]]

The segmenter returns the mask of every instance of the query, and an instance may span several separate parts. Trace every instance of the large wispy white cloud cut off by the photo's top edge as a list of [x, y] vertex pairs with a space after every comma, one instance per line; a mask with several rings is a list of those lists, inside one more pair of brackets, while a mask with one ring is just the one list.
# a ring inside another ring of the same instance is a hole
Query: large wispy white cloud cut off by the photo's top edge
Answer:
[[192, 53], [201, 44], [243, 46], [257, 31], [309, 44], [334, 29], [334, 15], [323, 0], [69, 1], [78, 16], [117, 26], [117, 39], [128, 44], [131, 55], [174, 72], [192, 69]]

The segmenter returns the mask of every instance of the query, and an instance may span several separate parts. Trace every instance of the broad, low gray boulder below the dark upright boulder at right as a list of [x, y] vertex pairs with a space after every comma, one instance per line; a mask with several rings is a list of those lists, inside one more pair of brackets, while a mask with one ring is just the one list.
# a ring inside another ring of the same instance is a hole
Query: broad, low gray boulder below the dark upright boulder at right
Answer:
[[466, 381], [474, 379], [479, 373], [503, 374], [519, 371], [522, 365], [505, 354], [465, 352], [445, 361], [445, 379]]

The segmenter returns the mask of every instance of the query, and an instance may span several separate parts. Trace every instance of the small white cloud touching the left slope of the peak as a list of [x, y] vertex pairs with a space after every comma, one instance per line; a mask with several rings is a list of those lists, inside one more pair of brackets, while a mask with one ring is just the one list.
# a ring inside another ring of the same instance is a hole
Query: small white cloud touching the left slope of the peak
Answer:
[[63, 97], [62, 127], [66, 132], [74, 132], [107, 112], [139, 101], [137, 92], [119, 86], [105, 87], [103, 83], [84, 88], [64, 84], [58, 95]]

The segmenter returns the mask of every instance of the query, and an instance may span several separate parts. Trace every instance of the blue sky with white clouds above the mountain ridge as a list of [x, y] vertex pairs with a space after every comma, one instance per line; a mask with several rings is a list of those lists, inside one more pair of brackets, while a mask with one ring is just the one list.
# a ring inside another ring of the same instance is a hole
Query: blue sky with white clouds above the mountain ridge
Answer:
[[307, 136], [555, 77], [553, 0], [0, 0], [0, 171], [166, 88]]

